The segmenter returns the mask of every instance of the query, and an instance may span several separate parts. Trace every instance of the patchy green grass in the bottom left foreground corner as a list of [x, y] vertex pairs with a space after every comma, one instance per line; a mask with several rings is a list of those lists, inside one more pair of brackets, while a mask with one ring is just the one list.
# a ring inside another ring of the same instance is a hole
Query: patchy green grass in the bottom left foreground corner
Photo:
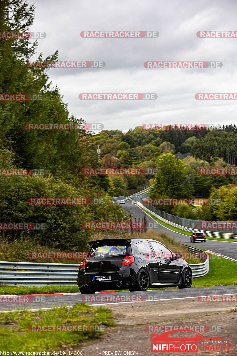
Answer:
[[[84, 303], [75, 304], [72, 308], [0, 313], [0, 350], [43, 352], [68, 349], [80, 345], [82, 341], [98, 338], [105, 326], [114, 326], [111, 318], [111, 310]], [[41, 325], [41, 328], [42, 325], [84, 325], [84, 331], [29, 331], [31, 325]]]

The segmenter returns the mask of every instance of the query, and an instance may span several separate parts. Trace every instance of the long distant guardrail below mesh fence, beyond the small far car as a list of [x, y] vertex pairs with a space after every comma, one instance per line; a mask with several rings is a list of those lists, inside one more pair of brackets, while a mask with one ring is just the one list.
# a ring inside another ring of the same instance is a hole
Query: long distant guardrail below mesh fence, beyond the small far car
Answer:
[[[190, 219], [184, 219], [184, 218], [180, 218], [179, 216], [174, 216], [171, 214], [167, 214], [164, 211], [161, 211], [157, 208], [155, 208], [155, 206], [152, 205], [145, 205], [144, 201], [142, 199], [140, 199], [139, 197], [134, 197], [133, 199], [134, 203], [138, 204], [142, 209], [149, 211], [150, 214], [152, 214], [153, 216], [156, 216], [156, 218], [164, 221], [165, 223], [174, 226], [174, 227], [178, 227], [178, 229], [181, 230], [185, 230], [185, 231], [189, 231], [189, 232], [203, 232], [205, 235], [207, 236], [212, 236], [212, 237], [216, 237], [216, 238], [225, 238], [225, 239], [237, 239], [237, 234], [231, 234], [231, 233], [227, 233], [227, 232], [217, 232], [217, 231], [208, 231], [208, 230], [200, 230], [200, 229], [193, 229], [191, 227], [187, 227], [185, 225], [180, 225], [180, 224], [176, 224], [173, 221], [167, 220], [165, 218], [163, 218], [161, 216], [165, 215], [166, 217], [171, 217], [172, 219], [177, 219], [178, 221], [183, 221], [183, 220], [190, 220]], [[190, 220], [191, 222], [208, 222], [208, 221], [204, 221], [204, 220]]]

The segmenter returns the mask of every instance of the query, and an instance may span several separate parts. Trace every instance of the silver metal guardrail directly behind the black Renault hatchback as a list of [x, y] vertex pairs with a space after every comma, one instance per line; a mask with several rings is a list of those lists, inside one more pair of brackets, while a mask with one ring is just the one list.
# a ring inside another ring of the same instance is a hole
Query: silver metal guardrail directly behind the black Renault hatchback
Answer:
[[[198, 250], [187, 246], [189, 252], [200, 256]], [[205, 276], [209, 271], [209, 258], [203, 263], [190, 265], [193, 278]], [[0, 261], [0, 284], [6, 286], [76, 286], [78, 264], [72, 263], [34, 263]]]

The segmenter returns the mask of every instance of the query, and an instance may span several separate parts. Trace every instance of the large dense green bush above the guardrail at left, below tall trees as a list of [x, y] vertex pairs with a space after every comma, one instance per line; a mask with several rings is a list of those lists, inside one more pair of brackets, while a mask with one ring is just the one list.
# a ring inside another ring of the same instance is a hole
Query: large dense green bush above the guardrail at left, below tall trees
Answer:
[[64, 249], [84, 248], [90, 230], [84, 221], [92, 221], [87, 205], [29, 205], [29, 198], [82, 198], [70, 184], [44, 177], [0, 177], [1, 223], [46, 223], [46, 230], [1, 230], [4, 237], [31, 238], [39, 244]]

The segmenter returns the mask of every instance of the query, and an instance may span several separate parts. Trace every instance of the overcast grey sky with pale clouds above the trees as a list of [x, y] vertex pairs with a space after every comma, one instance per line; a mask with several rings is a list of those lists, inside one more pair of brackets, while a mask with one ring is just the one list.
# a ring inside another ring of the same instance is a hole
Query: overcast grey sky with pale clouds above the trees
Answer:
[[[237, 101], [196, 100], [196, 93], [237, 93], [237, 2], [35, 0], [31, 31], [44, 31], [38, 53], [60, 61], [104, 61], [104, 68], [48, 69], [68, 109], [85, 122], [124, 132], [146, 123], [236, 124]], [[82, 38], [81, 31], [158, 31], [158, 38]], [[36, 59], [32, 58], [32, 60]], [[218, 69], [146, 69], [146, 61], [220, 61]], [[79, 100], [80, 93], [156, 93], [156, 100]]]

